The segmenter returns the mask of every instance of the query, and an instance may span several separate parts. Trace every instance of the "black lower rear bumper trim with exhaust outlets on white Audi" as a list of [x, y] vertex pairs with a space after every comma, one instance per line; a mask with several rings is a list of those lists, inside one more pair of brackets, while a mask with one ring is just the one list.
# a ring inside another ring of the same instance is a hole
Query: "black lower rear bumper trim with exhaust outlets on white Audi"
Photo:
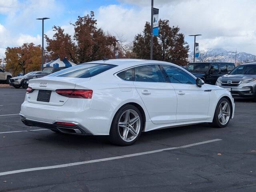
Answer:
[[61, 121], [54, 121], [53, 123], [35, 121], [35, 120], [26, 119], [25, 116], [23, 116], [22, 114], [20, 114], [20, 120], [25, 125], [28, 125], [31, 127], [41, 127], [45, 129], [51, 129], [53, 131], [59, 131], [62, 133], [68, 133], [68, 134], [74, 134], [74, 135], [92, 135], [92, 133], [88, 131], [85, 127], [82, 127], [82, 125], [73, 121], [69, 123], [74, 123], [76, 126], [63, 126], [63, 125], [55, 124], [56, 122], [61, 122]]

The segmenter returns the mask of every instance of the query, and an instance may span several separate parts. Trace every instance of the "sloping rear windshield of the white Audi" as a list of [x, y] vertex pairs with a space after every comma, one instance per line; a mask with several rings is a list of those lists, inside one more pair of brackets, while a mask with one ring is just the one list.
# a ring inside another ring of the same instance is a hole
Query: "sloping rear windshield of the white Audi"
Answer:
[[112, 69], [116, 65], [106, 65], [106, 64], [81, 64], [61, 71], [50, 74], [49, 76], [66, 76], [66, 77], [78, 77], [78, 78], [88, 78], [100, 74], [108, 69]]

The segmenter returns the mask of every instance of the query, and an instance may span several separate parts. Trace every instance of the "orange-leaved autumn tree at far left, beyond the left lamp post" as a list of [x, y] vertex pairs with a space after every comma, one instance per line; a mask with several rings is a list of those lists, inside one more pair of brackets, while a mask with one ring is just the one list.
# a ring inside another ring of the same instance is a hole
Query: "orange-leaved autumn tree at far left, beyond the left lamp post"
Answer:
[[40, 45], [34, 45], [34, 43], [24, 43], [20, 47], [7, 47], [5, 51], [6, 71], [17, 76], [20, 72], [26, 74], [40, 70], [41, 50]]

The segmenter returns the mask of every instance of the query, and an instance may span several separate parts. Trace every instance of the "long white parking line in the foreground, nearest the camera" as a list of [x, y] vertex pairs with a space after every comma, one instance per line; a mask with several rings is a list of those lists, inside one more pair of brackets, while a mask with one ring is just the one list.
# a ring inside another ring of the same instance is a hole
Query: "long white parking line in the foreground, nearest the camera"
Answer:
[[154, 151], [146, 151], [146, 152], [142, 152], [142, 153], [134, 153], [134, 154], [129, 154], [129, 155], [117, 156], [117, 157], [108, 157], [108, 158], [104, 158], [104, 159], [95, 159], [95, 160], [90, 160], [90, 161], [81, 161], [81, 162], [76, 162], [76, 163], [67, 163], [67, 164], [53, 165], [53, 166], [48, 166], [48, 167], [34, 167], [34, 168], [26, 168], [26, 169], [20, 169], [20, 170], [12, 170], [12, 171], [0, 172], [0, 176], [1, 175], [14, 174], [14, 173], [20, 173], [20, 172], [35, 171], [35, 170], [45, 170], [45, 169], [53, 169], [53, 168], [71, 167], [71, 166], [75, 166], [75, 165], [83, 165], [83, 164], [88, 164], [88, 163], [111, 161], [111, 160], [114, 160], [114, 159], [124, 159], [124, 158], [128, 158], [128, 157], [135, 157], [135, 156], [139, 156], [139, 155], [158, 153], [158, 152], [169, 151], [169, 150], [173, 150], [173, 149], [182, 149], [182, 148], [186, 148], [186, 147], [192, 147], [192, 146], [195, 146], [195, 145], [202, 145], [202, 144], [205, 144], [205, 143], [211, 143], [211, 142], [221, 141], [221, 140], [222, 139], [213, 139], [213, 140], [209, 140], [209, 141], [202, 141], [202, 142], [199, 142], [199, 143], [192, 143], [192, 144], [189, 144], [189, 145], [183, 145], [183, 146], [180, 146], [180, 147], [170, 147], [170, 148], [158, 149], [158, 150], [154, 150]]

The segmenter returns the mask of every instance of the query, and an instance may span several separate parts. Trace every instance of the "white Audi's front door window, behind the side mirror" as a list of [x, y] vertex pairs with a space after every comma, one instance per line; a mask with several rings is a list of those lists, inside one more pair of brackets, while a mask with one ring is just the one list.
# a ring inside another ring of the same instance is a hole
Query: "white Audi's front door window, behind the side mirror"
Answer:
[[196, 84], [196, 80], [187, 72], [170, 65], [162, 65], [171, 83]]

